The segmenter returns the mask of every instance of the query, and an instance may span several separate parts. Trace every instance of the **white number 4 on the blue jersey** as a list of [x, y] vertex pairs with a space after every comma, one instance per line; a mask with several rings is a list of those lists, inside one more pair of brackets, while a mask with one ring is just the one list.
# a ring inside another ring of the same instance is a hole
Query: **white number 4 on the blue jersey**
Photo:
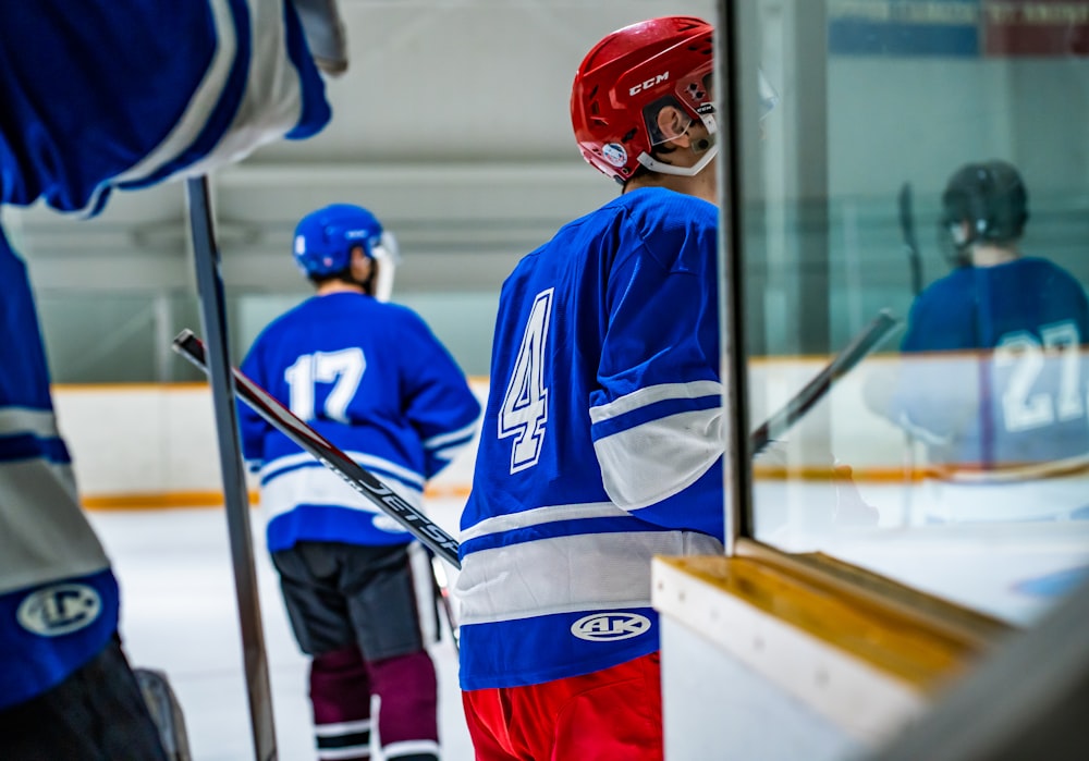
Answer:
[[552, 289], [541, 291], [534, 299], [514, 360], [514, 372], [499, 410], [499, 438], [514, 437], [512, 474], [537, 465], [544, 443], [544, 424], [548, 421], [544, 347], [552, 315]]

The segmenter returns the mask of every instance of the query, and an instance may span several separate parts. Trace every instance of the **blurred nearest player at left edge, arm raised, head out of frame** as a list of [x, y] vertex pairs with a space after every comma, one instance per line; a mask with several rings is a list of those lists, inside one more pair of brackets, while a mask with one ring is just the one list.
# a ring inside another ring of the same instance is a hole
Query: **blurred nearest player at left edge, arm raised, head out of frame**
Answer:
[[[3, 3], [0, 93], [0, 201], [84, 214], [114, 187], [206, 171], [330, 115], [285, 0]], [[0, 758], [163, 758], [2, 233], [0, 294]]]

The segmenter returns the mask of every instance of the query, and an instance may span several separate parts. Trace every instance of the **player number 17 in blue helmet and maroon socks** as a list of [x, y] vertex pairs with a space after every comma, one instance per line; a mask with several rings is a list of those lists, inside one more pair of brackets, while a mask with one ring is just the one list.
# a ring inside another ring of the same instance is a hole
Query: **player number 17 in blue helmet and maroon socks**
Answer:
[[[304, 217], [294, 257], [316, 295], [261, 332], [242, 370], [420, 508], [426, 480], [472, 440], [480, 405], [424, 321], [376, 298], [389, 295], [391, 242], [357, 206]], [[409, 563], [419, 545], [249, 407], [240, 416], [287, 614], [311, 658], [318, 758], [370, 758], [375, 694], [382, 758], [436, 761], [436, 674]]]

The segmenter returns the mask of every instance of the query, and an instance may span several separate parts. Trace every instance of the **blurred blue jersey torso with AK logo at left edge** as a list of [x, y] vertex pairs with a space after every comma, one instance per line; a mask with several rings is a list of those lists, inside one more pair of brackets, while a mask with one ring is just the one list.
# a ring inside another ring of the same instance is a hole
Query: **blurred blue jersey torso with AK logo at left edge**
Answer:
[[0, 233], [0, 710], [59, 684], [118, 625], [118, 585], [79, 508], [26, 268]]

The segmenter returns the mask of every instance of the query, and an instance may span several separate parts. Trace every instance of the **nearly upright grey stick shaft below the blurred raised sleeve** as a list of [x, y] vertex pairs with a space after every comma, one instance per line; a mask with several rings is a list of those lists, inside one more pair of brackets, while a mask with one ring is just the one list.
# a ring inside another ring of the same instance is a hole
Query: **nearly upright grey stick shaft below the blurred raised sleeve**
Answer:
[[276, 729], [272, 717], [272, 689], [269, 685], [268, 655], [261, 627], [261, 610], [257, 594], [257, 572], [249, 532], [249, 495], [242, 467], [238, 421], [232, 391], [230, 355], [227, 345], [227, 303], [223, 279], [219, 271], [219, 248], [208, 197], [208, 177], [186, 181], [189, 230], [193, 237], [193, 259], [197, 274], [200, 317], [208, 335], [208, 379], [216, 412], [219, 439], [219, 464], [223, 477], [227, 526], [234, 568], [234, 589], [242, 629], [243, 666], [249, 698], [249, 719], [257, 761], [277, 758]]

